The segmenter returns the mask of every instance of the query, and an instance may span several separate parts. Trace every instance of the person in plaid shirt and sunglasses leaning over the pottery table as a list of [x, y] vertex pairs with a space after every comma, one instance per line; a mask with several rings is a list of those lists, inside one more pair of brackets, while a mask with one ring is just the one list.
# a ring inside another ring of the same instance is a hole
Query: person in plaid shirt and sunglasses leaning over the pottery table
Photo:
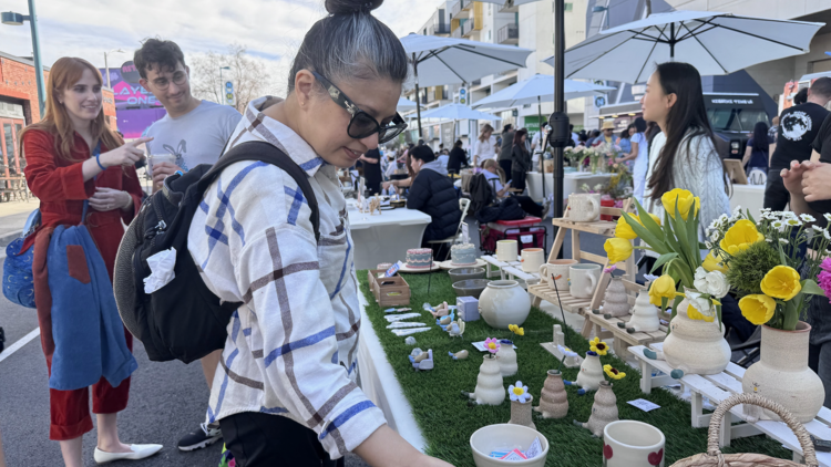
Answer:
[[357, 386], [358, 281], [347, 205], [337, 178], [361, 154], [398, 136], [407, 54], [372, 17], [382, 0], [327, 0], [307, 32], [285, 101], [252, 102], [229, 146], [260, 141], [309, 177], [309, 201], [284, 170], [226, 168], [197, 210], [188, 249], [223, 300], [245, 303], [228, 324], [207, 422], [218, 421], [238, 465], [448, 466], [390, 428]]

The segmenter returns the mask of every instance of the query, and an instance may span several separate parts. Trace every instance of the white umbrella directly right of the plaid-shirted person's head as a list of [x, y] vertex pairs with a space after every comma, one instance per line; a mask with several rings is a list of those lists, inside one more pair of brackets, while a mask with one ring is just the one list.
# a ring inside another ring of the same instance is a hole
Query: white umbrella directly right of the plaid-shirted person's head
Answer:
[[[465, 84], [491, 74], [525, 68], [525, 61], [533, 52], [513, 45], [414, 33], [401, 38], [401, 44], [412, 58], [417, 96], [420, 86]], [[416, 110], [421, 135], [421, 108]]]

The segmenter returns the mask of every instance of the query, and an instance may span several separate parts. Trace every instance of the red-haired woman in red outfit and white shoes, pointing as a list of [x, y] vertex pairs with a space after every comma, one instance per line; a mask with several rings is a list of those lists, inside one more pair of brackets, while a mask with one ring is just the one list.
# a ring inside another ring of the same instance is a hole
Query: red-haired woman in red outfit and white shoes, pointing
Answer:
[[[57, 226], [81, 224], [84, 200], [89, 200], [85, 224], [98, 245], [110, 279], [115, 255], [124, 235], [124, 222], [133, 219], [141, 206], [142, 187], [133, 166], [143, 155], [140, 138], [124, 144], [105, 121], [101, 97], [101, 73], [82, 59], [62, 58], [49, 74], [47, 115], [27, 127], [21, 135], [27, 158], [25, 179], [29, 189], [40, 198], [41, 227], [28, 240], [35, 245], [35, 263], [49, 247], [49, 231]], [[95, 151], [100, 147], [100, 151]], [[96, 154], [99, 154], [96, 156]], [[47, 230], [44, 230], [47, 229]], [[45, 234], [45, 235], [41, 235]], [[35, 302], [41, 326], [41, 344], [51, 369], [54, 352], [51, 321], [51, 295], [48, 276], [34, 268]], [[43, 298], [42, 298], [43, 297]], [[132, 350], [132, 335], [124, 331]], [[92, 412], [98, 418], [98, 463], [140, 459], [158, 452], [160, 445], [125, 445], [119, 439], [116, 414], [127, 405], [130, 378], [113, 387], [103, 377], [92, 386]], [[89, 388], [49, 390], [49, 438], [59, 440], [66, 467], [83, 466], [82, 436], [92, 430]]]

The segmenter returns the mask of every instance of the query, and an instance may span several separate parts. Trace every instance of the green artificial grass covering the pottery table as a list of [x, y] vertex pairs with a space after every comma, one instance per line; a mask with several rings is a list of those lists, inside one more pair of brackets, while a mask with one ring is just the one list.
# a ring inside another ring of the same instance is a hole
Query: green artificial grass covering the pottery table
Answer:
[[[361, 291], [367, 298], [367, 315], [378, 339], [392, 365], [396, 377], [401, 384], [404, 396], [412, 406], [413, 416], [423, 433], [427, 447], [425, 453], [447, 460], [454, 466], [474, 466], [470, 448], [470, 436], [476, 429], [499, 423], [507, 423], [511, 418], [511, 403], [507, 397], [499, 406], [468, 405], [461, 391], [473, 392], [476, 386], [479, 366], [482, 356], [472, 342], [486, 338], [510, 339], [516, 345], [519, 372], [514, 376], [505, 377], [503, 383], [514, 384], [517, 380], [529, 386], [534, 396], [533, 405], [538, 405], [540, 392], [546, 377], [546, 372], [556, 369], [558, 362], [546, 352], [540, 343], [551, 342], [553, 325], [563, 324], [537, 308], [531, 309], [531, 314], [523, 324], [524, 336], [517, 336], [510, 331], [495, 330], [484, 320], [468, 322], [464, 338], [450, 338], [441, 328], [434, 325], [435, 320], [422, 309], [428, 302], [433, 307], [447, 301], [455, 304], [455, 293], [451, 288], [447, 272], [429, 274], [402, 274], [410, 284], [412, 299], [410, 308], [413, 312], [422, 313], [422, 318], [407, 321], [427, 322], [433, 328], [430, 331], [413, 334], [418, 347], [427, 352], [433, 350], [435, 367], [431, 371], [416, 372], [408, 360], [412, 345], [404, 343], [406, 338], [399, 338], [387, 329], [389, 323], [383, 319], [383, 309], [376, 303], [369, 290], [367, 271], [358, 271]], [[431, 280], [428, 297], [428, 280]], [[384, 307], [387, 308], [387, 307]], [[588, 351], [588, 342], [577, 332], [563, 325], [566, 344], [584, 356]], [[468, 350], [466, 360], [453, 361], [448, 352]], [[653, 390], [646, 395], [640, 391], [640, 374], [637, 370], [626, 365], [620, 359], [609, 353], [601, 356], [603, 364], [626, 373], [626, 377], [614, 382], [617, 396], [617, 408], [620, 419], [634, 419], [656, 426], [666, 436], [666, 466], [678, 459], [707, 450], [707, 428], [690, 426], [690, 406], [663, 388]], [[563, 367], [563, 378], [574, 381], [578, 369]], [[592, 411], [594, 393], [577, 395], [577, 387], [566, 386], [568, 393], [568, 415], [561, 419], [544, 419], [534, 413], [534, 424], [551, 443], [546, 465], [548, 466], [599, 466], [603, 464], [603, 440], [592, 436], [591, 432], [572, 424], [573, 419], [586, 422]], [[643, 412], [626, 402], [645, 398], [659, 405], [652, 412]], [[781, 444], [765, 436], [752, 436], [733, 439], [731, 446], [721, 449], [724, 453], [760, 453], [782, 459], [791, 459], [792, 453]]]

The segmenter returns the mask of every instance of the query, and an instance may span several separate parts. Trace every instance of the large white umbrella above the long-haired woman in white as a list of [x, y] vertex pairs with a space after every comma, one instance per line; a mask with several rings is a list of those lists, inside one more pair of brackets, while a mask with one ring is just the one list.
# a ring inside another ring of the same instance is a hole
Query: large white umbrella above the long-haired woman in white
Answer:
[[[823, 23], [670, 11], [601, 31], [565, 51], [565, 77], [643, 83], [655, 63], [681, 61], [706, 75], [807, 53]], [[554, 66], [554, 58], [543, 60]]]

